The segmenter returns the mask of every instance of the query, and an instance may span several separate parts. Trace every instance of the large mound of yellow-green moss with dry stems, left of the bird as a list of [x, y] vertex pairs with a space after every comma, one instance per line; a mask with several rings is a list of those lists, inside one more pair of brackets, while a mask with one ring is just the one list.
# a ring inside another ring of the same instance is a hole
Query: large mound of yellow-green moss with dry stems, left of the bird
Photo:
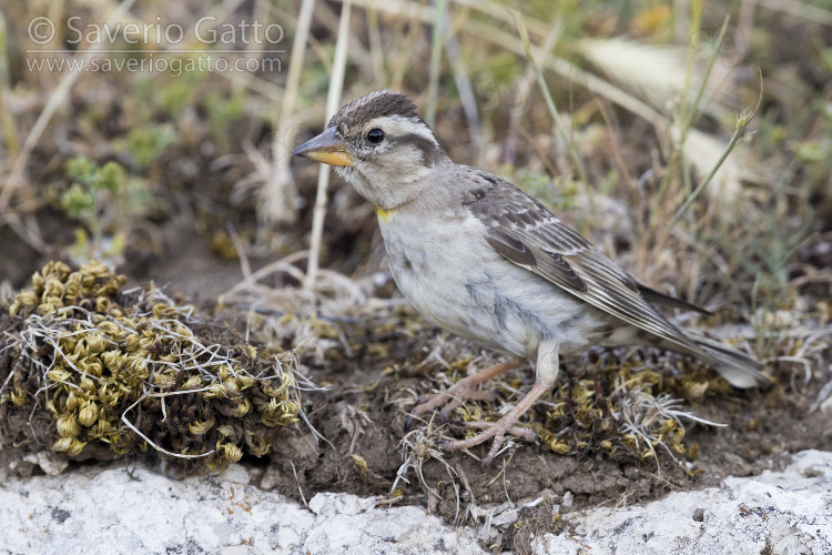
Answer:
[[199, 471], [270, 453], [301, 417], [293, 353], [230, 341], [193, 306], [124, 282], [100, 262], [50, 262], [14, 296], [0, 340], [0, 448], [40, 448], [34, 427], [13, 422], [47, 411], [52, 451], [71, 457], [151, 445]]

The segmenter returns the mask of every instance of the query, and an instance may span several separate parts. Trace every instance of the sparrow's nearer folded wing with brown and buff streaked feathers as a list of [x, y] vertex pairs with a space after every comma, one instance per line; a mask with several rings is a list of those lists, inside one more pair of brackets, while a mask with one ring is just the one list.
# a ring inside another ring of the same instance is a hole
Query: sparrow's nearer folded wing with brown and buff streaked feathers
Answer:
[[589, 241], [510, 183], [491, 175], [486, 181], [465, 204], [488, 228], [485, 240], [495, 251], [677, 350], [707, 357], [645, 299], [632, 276]]

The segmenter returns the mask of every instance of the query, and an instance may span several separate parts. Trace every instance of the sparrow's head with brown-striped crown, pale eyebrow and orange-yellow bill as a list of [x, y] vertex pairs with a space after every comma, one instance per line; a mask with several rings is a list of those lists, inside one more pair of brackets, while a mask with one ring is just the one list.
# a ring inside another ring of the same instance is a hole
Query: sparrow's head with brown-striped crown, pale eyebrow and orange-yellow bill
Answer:
[[425, 178], [449, 163], [416, 104], [388, 89], [342, 107], [326, 131], [292, 154], [334, 165], [362, 196], [384, 210], [413, 200]]

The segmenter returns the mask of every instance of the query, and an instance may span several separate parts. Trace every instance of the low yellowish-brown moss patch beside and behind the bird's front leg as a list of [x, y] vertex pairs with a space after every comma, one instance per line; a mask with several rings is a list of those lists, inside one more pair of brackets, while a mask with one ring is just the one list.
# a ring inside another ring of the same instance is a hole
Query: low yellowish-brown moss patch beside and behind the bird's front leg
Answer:
[[[580, 359], [580, 362], [568, 363], [569, 366], [580, 365], [579, 373], [567, 372], [524, 425], [537, 434], [546, 448], [557, 454], [597, 454], [632, 462], [657, 458], [661, 450], [682, 463], [686, 457], [696, 458], [683, 443], [684, 420], [721, 425], [682, 410], [682, 401], [677, 398], [681, 395], [698, 400], [706, 392], [724, 393], [723, 380], [718, 376], [708, 376], [706, 372], [688, 373], [689, 369], [673, 376], [669, 367], [667, 372], [643, 365], [637, 367], [638, 361], [619, 360], [613, 352], [597, 356], [595, 363], [585, 360], [588, 356]], [[522, 381], [511, 374], [494, 385], [503, 393], [493, 396], [494, 401], [469, 401], [455, 411], [470, 428], [469, 435], [480, 427], [478, 422], [496, 421], [505, 414], [524, 390]]]

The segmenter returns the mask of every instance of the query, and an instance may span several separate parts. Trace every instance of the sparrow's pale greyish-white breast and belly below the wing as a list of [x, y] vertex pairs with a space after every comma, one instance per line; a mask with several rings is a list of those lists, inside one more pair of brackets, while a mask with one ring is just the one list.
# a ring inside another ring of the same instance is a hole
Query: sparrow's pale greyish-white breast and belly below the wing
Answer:
[[578, 349], [599, 324], [586, 303], [494, 251], [473, 216], [393, 212], [379, 224], [398, 289], [434, 325], [534, 360], [541, 339]]

